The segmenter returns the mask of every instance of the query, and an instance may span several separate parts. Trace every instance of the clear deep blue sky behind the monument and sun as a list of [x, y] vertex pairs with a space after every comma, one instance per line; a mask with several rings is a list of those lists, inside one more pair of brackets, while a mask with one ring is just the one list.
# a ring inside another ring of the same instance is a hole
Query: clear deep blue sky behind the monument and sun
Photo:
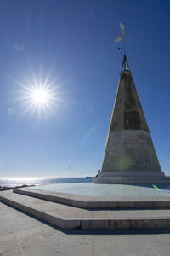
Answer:
[[[122, 66], [120, 22], [170, 175], [170, 1], [1, 0], [0, 177], [84, 177], [101, 168]], [[53, 97], [44, 111], [32, 107], [35, 86]]]

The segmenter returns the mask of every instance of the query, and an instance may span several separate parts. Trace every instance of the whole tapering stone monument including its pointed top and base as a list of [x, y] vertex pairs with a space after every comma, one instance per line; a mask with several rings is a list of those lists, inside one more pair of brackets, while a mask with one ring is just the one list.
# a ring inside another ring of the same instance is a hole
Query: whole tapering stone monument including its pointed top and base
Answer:
[[170, 183], [170, 177], [165, 177], [161, 171], [126, 55], [103, 165], [94, 183]]

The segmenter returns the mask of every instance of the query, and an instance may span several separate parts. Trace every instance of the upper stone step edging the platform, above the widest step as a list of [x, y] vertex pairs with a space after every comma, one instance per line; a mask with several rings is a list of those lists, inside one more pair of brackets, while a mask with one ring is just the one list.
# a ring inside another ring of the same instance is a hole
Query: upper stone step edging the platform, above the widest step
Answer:
[[41, 189], [13, 189], [14, 193], [84, 209], [170, 209], [170, 197], [103, 197], [66, 194]]

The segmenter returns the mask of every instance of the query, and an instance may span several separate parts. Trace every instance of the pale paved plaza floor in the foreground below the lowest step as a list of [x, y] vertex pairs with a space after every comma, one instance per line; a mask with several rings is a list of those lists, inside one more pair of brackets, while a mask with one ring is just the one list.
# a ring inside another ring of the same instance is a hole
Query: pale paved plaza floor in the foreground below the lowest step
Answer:
[[170, 230], [59, 230], [0, 203], [0, 255], [169, 256]]

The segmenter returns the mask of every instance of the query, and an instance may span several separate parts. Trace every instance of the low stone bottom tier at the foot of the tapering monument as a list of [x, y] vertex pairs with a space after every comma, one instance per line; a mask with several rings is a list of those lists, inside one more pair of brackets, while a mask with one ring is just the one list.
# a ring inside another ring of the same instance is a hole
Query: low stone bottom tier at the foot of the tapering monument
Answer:
[[169, 184], [170, 177], [93, 177], [94, 183], [104, 184]]

